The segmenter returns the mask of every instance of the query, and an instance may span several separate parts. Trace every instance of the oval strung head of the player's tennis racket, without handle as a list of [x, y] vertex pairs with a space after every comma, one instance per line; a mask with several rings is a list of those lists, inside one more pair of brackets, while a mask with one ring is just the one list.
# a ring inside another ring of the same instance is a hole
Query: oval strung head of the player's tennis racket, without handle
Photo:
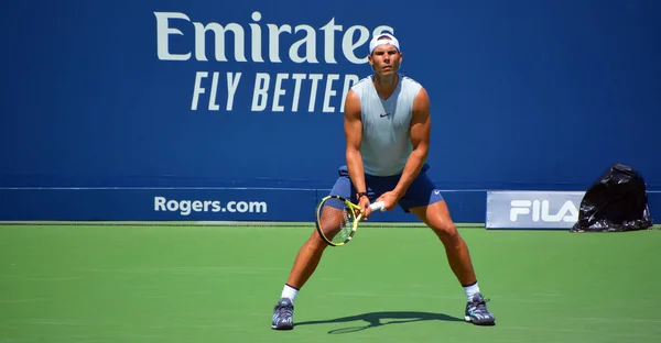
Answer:
[[335, 244], [344, 243], [350, 237], [354, 221], [353, 210], [340, 199], [329, 198], [317, 210], [322, 233]]

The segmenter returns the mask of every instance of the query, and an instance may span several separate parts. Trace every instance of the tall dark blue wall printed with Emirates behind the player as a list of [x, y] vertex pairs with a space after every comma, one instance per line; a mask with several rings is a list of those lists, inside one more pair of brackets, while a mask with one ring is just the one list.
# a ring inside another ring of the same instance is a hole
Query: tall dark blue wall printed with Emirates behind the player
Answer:
[[440, 188], [584, 190], [622, 163], [661, 190], [659, 15], [653, 0], [13, 1], [0, 211], [44, 213], [15, 214], [9, 189], [26, 187], [327, 189], [381, 31], [430, 93]]

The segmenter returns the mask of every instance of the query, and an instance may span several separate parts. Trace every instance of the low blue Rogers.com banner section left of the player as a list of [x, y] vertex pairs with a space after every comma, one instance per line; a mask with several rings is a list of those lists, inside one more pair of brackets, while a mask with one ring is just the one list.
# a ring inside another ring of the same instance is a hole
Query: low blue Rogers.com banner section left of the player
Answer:
[[0, 220], [312, 221], [312, 189], [4, 188]]

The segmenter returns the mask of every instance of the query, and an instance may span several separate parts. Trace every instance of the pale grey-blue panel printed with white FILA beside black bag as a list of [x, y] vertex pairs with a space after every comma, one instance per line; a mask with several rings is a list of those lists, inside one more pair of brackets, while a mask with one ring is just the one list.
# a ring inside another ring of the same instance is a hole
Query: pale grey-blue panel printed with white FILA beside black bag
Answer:
[[487, 229], [570, 229], [584, 191], [488, 191]]

